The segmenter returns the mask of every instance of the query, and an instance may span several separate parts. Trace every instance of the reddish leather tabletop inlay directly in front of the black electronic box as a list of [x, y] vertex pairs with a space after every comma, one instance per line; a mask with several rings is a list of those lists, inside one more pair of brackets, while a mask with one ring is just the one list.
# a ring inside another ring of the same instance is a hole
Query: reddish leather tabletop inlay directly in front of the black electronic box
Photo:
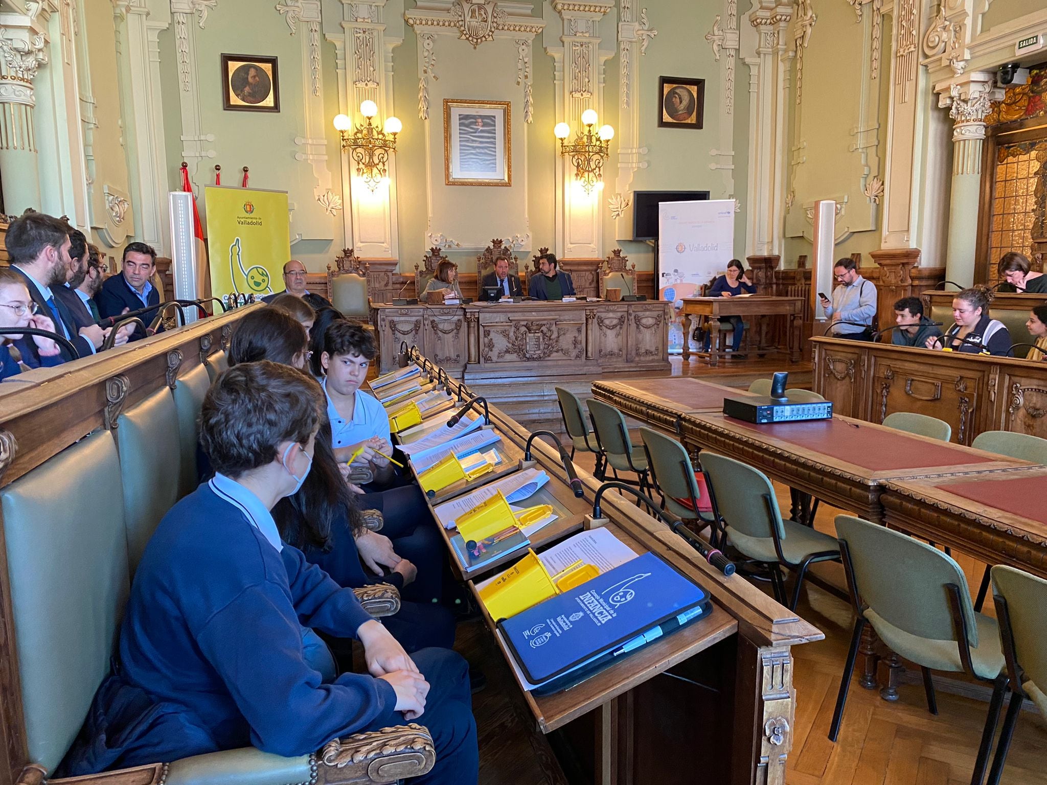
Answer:
[[959, 445], [931, 444], [903, 431], [867, 427], [867, 423], [851, 424], [837, 418], [774, 425], [734, 418], [723, 420], [873, 472], [985, 464], [996, 459], [977, 455]]

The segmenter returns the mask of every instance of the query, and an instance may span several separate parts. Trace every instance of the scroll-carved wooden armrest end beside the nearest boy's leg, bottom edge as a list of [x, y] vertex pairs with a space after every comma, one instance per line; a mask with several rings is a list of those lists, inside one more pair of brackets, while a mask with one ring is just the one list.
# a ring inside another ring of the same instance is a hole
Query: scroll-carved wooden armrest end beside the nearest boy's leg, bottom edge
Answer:
[[436, 762], [429, 732], [411, 722], [329, 741], [320, 750], [316, 782], [385, 785], [427, 773]]

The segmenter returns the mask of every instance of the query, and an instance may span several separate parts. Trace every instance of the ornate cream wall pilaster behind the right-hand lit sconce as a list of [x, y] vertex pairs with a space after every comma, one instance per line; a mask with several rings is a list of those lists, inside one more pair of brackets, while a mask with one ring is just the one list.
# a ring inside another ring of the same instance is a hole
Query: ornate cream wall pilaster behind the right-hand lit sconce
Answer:
[[[586, 109], [596, 110], [603, 118], [603, 61], [615, 52], [600, 50], [600, 20], [614, 5], [614, 0], [553, 2], [553, 10], [563, 23], [562, 47], [547, 47], [556, 61], [556, 119], [571, 126], [572, 134], [582, 127]], [[602, 256], [602, 192], [586, 194], [574, 183], [571, 162], [558, 150], [556, 156], [556, 255]]]

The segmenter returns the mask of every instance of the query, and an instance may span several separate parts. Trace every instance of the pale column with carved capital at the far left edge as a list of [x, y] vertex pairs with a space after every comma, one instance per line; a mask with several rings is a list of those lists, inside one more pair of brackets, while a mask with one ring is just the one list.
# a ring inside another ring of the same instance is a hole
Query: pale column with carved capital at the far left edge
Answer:
[[36, 15], [5, 14], [0, 22], [0, 173], [4, 207], [12, 215], [40, 208], [32, 81], [47, 63], [45, 30], [37, 28]]

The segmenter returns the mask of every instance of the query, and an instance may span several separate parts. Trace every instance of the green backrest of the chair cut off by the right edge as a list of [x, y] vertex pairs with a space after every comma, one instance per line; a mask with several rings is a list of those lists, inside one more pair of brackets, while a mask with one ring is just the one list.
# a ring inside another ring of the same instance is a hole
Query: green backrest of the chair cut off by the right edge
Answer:
[[[1040, 697], [1047, 693], [1047, 581], [1003, 564], [993, 567], [993, 593], [1007, 601], [1010, 634], [1015, 641], [1015, 659], [1027, 681], [1037, 687]], [[1034, 694], [1034, 693], [1033, 693]], [[1047, 700], [1038, 700], [1047, 712]]]

